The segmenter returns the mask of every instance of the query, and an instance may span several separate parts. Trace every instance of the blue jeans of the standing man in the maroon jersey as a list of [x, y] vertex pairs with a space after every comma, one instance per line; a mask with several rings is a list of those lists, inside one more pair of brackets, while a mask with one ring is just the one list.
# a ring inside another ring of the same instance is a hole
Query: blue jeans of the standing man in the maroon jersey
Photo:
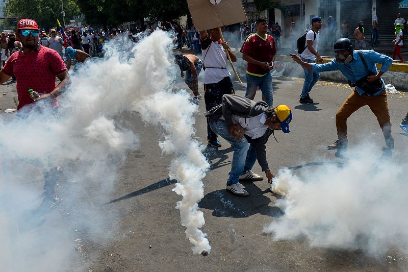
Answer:
[[265, 96], [265, 102], [269, 107], [272, 107], [273, 103], [273, 87], [272, 76], [270, 72], [267, 72], [265, 76], [257, 77], [246, 74], [246, 93], [245, 97], [253, 99], [257, 92], [258, 86], [261, 88], [262, 94]]

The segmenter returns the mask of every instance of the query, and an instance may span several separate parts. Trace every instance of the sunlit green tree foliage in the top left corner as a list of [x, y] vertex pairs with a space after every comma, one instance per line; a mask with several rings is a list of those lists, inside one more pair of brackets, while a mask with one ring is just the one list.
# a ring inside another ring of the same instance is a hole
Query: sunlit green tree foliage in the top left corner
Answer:
[[[63, 0], [65, 18], [79, 15], [80, 9], [74, 0]], [[5, 17], [34, 19], [39, 28], [49, 29], [58, 26], [57, 19], [63, 22], [61, 0], [12, 0], [3, 9]]]

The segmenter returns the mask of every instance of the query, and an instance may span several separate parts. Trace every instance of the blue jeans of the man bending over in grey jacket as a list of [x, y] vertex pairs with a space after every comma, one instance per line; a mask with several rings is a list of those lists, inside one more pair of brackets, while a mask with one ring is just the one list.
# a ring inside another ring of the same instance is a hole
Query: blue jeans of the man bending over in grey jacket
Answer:
[[242, 139], [237, 140], [233, 138], [228, 132], [228, 126], [224, 120], [215, 119], [210, 122], [211, 130], [227, 140], [234, 147], [234, 155], [231, 163], [231, 171], [228, 173], [230, 178], [227, 180], [228, 185], [238, 183], [239, 176], [241, 176], [247, 170], [252, 169], [253, 165], [257, 161], [257, 154], [252, 144], [249, 145], [245, 136]]

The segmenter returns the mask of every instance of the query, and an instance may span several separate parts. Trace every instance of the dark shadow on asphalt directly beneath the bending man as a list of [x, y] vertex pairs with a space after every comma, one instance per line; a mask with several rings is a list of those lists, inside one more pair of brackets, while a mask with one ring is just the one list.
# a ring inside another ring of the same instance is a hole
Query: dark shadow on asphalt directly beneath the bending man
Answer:
[[200, 208], [214, 210], [212, 215], [217, 217], [249, 217], [260, 213], [271, 217], [281, 217], [283, 212], [277, 207], [270, 207], [271, 200], [266, 193], [271, 193], [269, 188], [262, 191], [252, 182], [242, 182], [249, 196], [234, 195], [226, 190], [216, 190], [206, 194], [198, 203]]

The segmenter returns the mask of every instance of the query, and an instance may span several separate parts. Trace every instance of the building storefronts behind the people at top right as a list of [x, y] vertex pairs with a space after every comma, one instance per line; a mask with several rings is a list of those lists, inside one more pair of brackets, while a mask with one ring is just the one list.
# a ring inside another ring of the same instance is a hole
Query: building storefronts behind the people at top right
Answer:
[[[321, 30], [323, 35], [327, 31], [325, 28], [327, 28], [328, 17], [335, 17], [338, 28], [335, 38], [341, 37], [341, 24], [346, 20], [349, 24], [348, 37], [352, 41], [354, 41], [355, 28], [360, 21], [363, 21], [367, 43], [371, 41], [371, 24], [374, 15], [378, 16], [378, 33], [380, 42], [383, 41], [383, 43], [394, 39], [394, 20], [397, 13], [401, 13], [401, 17], [408, 20], [408, 4], [404, 5], [404, 0], [281, 0], [281, 2], [290, 9], [288, 17], [285, 18], [277, 9], [265, 10], [260, 15], [266, 16], [269, 23], [278, 22], [281, 25], [282, 41], [286, 46], [290, 46], [288, 39], [291, 38], [292, 22], [295, 22], [296, 37], [300, 37], [306, 24], [310, 23], [314, 16], [320, 16], [323, 19], [324, 26]], [[248, 22], [259, 16], [253, 1], [243, 0], [243, 5]], [[326, 46], [329, 46], [329, 43]]]

